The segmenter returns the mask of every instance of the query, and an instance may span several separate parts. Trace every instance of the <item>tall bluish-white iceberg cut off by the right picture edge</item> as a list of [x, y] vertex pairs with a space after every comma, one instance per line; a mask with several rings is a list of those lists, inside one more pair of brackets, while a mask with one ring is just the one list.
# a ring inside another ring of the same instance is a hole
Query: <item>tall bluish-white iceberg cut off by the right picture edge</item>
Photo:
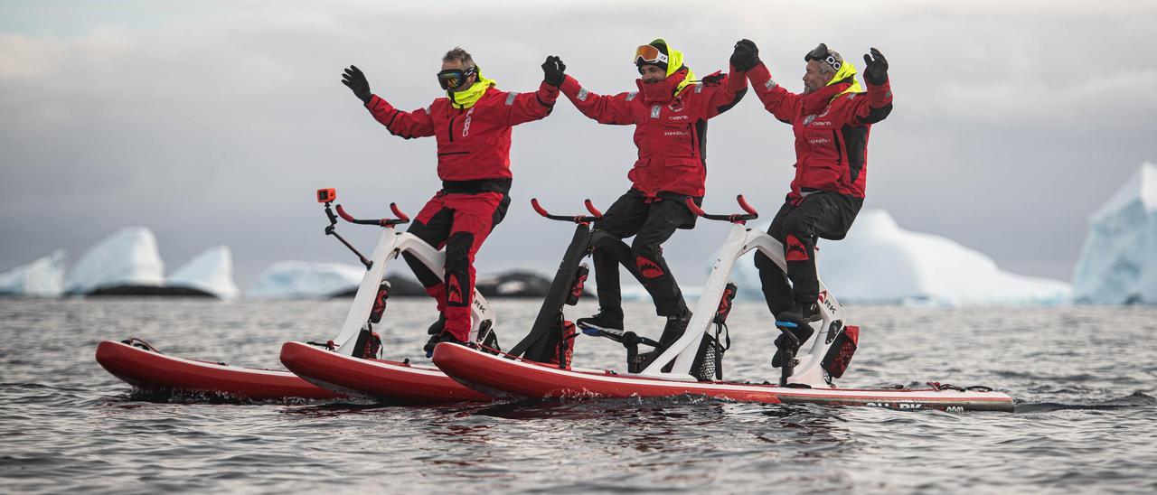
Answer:
[[1157, 165], [1142, 163], [1089, 219], [1073, 293], [1078, 302], [1157, 304]]

